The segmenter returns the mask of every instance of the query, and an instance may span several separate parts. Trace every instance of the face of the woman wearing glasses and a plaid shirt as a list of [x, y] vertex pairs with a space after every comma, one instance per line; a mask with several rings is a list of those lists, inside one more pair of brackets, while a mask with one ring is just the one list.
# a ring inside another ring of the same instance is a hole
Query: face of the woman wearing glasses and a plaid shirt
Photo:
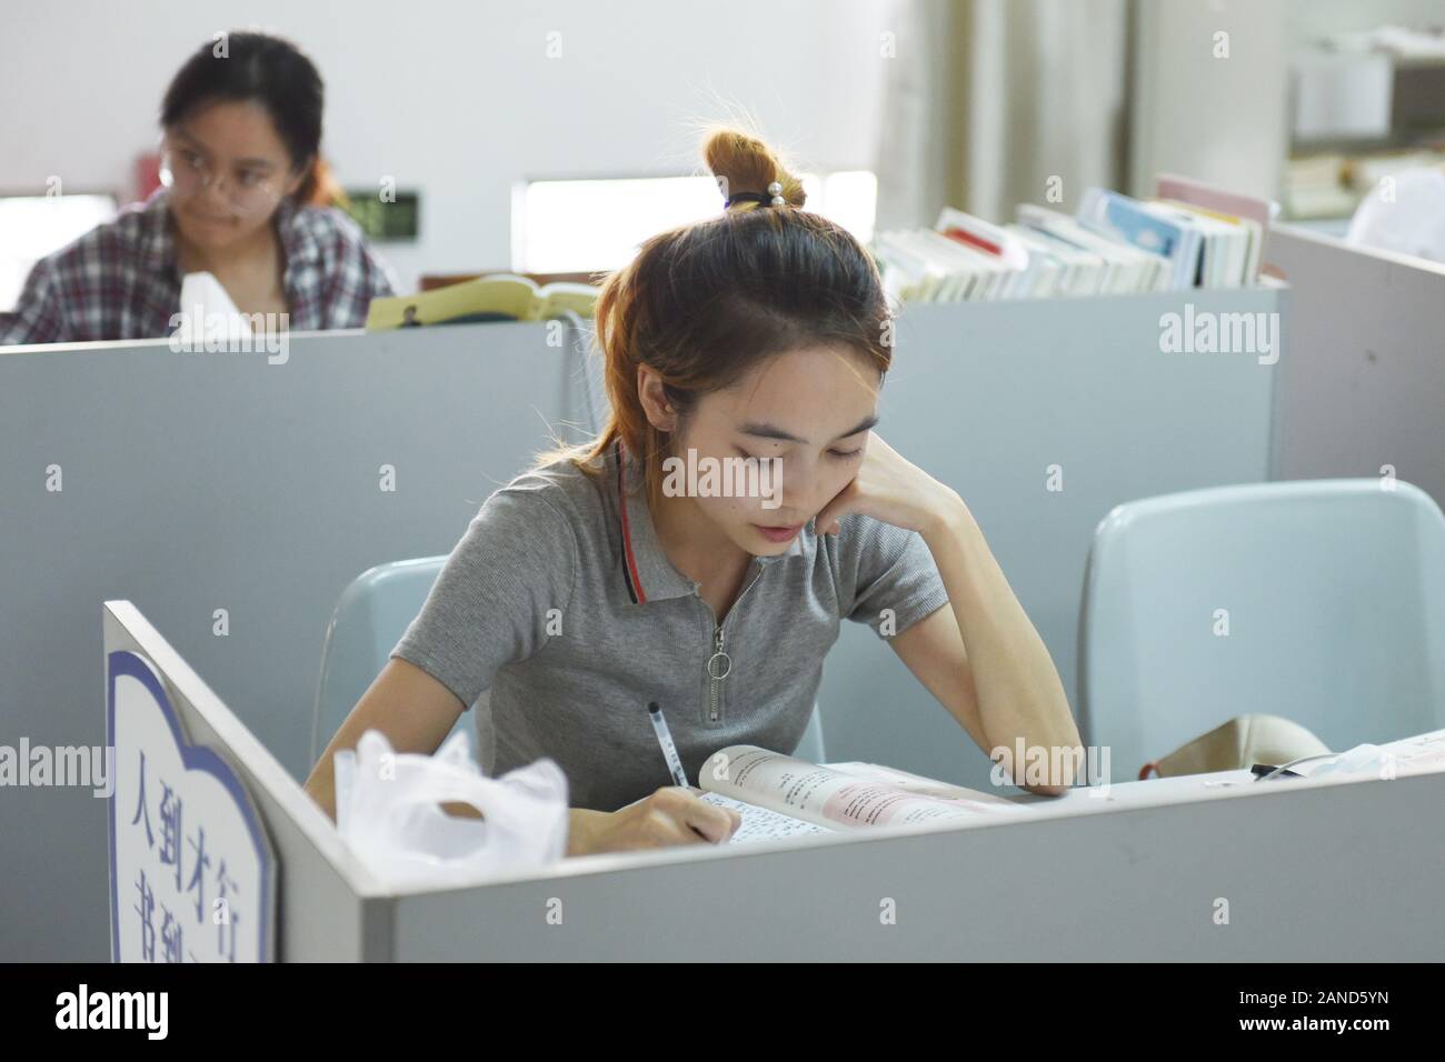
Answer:
[[166, 130], [171, 214], [208, 251], [243, 244], [301, 185], [266, 108], [251, 101], [202, 104]]

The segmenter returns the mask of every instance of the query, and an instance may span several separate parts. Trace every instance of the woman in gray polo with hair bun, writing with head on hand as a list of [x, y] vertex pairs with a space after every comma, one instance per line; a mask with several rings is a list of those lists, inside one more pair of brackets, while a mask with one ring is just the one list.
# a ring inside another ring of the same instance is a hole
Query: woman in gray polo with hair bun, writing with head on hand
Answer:
[[[736, 816], [669, 785], [647, 705], [688, 777], [730, 744], [789, 753], [842, 618], [884, 634], [1010, 777], [1016, 740], [1079, 746], [968, 507], [871, 431], [892, 322], [868, 254], [801, 210], [759, 140], [720, 131], [705, 157], [721, 217], [644, 243], [598, 301], [605, 429], [481, 506], [306, 782], [329, 813], [338, 750], [374, 727], [434, 751], [490, 689], [483, 766], [561, 764], [569, 854], [722, 841]], [[780, 490], [688, 490], [668, 458], [756, 458]], [[1072, 779], [1051, 782], [1030, 787]]]

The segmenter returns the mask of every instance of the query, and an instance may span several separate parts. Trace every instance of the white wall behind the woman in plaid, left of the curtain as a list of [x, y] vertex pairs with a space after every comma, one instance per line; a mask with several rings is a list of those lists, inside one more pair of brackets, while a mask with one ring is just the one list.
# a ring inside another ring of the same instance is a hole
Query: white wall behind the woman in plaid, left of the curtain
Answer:
[[884, 19], [870, 0], [14, 4], [0, 22], [0, 191], [51, 175], [129, 188], [185, 58], [217, 30], [260, 27], [321, 69], [341, 182], [422, 191], [419, 243], [383, 247], [403, 283], [506, 267], [513, 182], [692, 172], [695, 121], [730, 108], [809, 169], [873, 169]]

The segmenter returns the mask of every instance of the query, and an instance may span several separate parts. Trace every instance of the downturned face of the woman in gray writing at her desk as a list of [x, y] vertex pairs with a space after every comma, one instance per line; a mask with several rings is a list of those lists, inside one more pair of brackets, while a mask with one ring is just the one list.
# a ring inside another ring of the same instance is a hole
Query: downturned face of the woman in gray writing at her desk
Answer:
[[[695, 496], [699, 510], [746, 552], [785, 553], [863, 465], [880, 384], [879, 370], [845, 348], [808, 347], [767, 358], [733, 387], [702, 396], [673, 436], [681, 475], [672, 484], [686, 485], [694, 451], [698, 487], [708, 464], [720, 483], [734, 487], [734, 497]], [[750, 475], [738, 471], [747, 471], [746, 458], [756, 458]], [[736, 496], [738, 487], [746, 496]]]

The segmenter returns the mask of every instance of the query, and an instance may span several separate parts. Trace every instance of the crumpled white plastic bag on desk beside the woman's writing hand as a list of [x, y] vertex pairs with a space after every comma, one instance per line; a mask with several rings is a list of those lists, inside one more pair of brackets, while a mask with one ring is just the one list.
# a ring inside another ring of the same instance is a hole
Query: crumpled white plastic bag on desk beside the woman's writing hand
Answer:
[[[335, 756], [337, 829], [393, 887], [452, 886], [540, 867], [566, 851], [566, 776], [552, 760], [488, 779], [465, 731], [435, 756], [394, 753], [377, 730]], [[470, 803], [483, 818], [441, 809]]]

